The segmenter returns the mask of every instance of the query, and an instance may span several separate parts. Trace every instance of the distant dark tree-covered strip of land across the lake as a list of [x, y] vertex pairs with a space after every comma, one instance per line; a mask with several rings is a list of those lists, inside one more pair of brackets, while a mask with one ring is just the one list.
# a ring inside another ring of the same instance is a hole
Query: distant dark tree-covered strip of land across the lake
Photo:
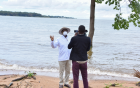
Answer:
[[40, 17], [40, 18], [65, 18], [65, 19], [75, 19], [73, 17], [65, 16], [50, 16], [42, 15], [35, 12], [12, 12], [12, 11], [0, 11], [0, 16], [18, 16], [18, 17]]

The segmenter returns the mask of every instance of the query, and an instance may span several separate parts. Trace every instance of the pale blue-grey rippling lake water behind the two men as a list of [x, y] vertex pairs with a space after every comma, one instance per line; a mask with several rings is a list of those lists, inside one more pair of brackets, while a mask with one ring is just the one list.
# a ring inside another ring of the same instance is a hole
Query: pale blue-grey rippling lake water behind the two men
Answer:
[[[140, 70], [140, 28], [114, 30], [113, 20], [95, 20], [93, 48], [88, 52], [88, 73], [133, 77]], [[0, 69], [58, 72], [58, 49], [50, 35], [69, 27], [69, 37], [88, 19], [54, 19], [0, 16]]]

